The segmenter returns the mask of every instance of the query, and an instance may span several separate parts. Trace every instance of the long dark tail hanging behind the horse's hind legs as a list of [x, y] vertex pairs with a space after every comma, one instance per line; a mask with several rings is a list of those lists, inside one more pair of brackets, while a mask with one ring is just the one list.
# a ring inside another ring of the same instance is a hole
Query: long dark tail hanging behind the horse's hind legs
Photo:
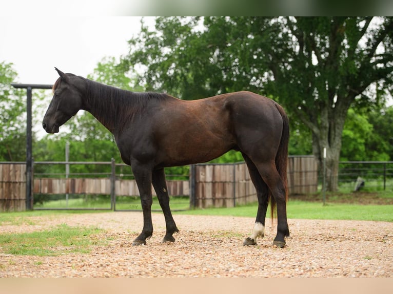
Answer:
[[[284, 109], [279, 104], [276, 103], [276, 107], [283, 119], [283, 129], [280, 139], [280, 145], [276, 154], [276, 169], [279, 172], [280, 178], [284, 185], [285, 202], [287, 202], [288, 201], [287, 163], [288, 163], [288, 143], [289, 143], [289, 119]], [[276, 200], [274, 200], [274, 197], [272, 197], [271, 191], [269, 191], [269, 198], [270, 198], [271, 218], [273, 220], [274, 216], [276, 216], [277, 207], [276, 207]]]

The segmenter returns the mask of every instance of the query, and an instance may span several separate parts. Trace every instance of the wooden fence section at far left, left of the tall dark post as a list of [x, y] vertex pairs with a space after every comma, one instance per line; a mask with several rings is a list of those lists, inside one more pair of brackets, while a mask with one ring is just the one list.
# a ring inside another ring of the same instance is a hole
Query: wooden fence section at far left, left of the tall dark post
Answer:
[[0, 164], [0, 212], [26, 209], [26, 164]]

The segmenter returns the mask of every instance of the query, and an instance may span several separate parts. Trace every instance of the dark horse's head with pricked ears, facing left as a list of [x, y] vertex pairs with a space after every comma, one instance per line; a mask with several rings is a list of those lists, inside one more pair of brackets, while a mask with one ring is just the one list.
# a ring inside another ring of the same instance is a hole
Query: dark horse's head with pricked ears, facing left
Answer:
[[60, 77], [53, 85], [53, 97], [42, 122], [50, 134], [58, 133], [59, 127], [82, 109], [85, 96], [82, 77], [55, 70]]

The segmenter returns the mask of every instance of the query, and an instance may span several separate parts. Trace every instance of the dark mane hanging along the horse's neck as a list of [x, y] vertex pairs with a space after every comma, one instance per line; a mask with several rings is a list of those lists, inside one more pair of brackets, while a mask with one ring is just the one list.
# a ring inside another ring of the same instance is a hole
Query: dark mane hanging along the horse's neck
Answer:
[[91, 110], [94, 109], [94, 116], [111, 132], [121, 131], [152, 102], [173, 98], [164, 93], [131, 92], [89, 79], [85, 81], [88, 103]]

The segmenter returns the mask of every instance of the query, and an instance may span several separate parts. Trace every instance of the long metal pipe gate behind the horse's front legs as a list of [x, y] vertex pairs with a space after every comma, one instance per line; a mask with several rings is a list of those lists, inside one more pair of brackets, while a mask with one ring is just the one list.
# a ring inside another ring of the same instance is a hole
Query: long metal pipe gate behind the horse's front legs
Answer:
[[[78, 173], [86, 165], [89, 173]], [[53, 166], [57, 166], [53, 168]], [[62, 166], [62, 167], [59, 167]], [[68, 169], [67, 169], [67, 166]], [[65, 173], [64, 171], [69, 171]], [[60, 171], [60, 172], [59, 172]], [[189, 209], [189, 179], [167, 175], [173, 210]], [[153, 211], [161, 207], [152, 188]], [[141, 201], [130, 166], [111, 162], [34, 162], [34, 209], [92, 209], [141, 211]]]

